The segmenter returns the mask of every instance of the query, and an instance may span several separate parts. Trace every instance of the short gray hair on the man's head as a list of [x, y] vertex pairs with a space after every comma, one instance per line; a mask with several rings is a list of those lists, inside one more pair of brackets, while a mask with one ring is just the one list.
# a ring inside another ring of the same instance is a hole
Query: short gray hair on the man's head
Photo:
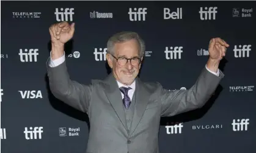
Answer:
[[112, 35], [112, 37], [109, 38], [108, 43], [107, 43], [107, 53], [114, 55], [114, 46], [115, 43], [122, 43], [125, 41], [129, 40], [136, 40], [137, 43], [139, 44], [139, 56], [143, 57], [145, 54], [145, 43], [144, 40], [142, 40], [141, 37], [139, 37], [139, 34], [136, 32], [129, 32], [129, 31], [124, 31], [124, 32], [119, 32], [117, 34]]

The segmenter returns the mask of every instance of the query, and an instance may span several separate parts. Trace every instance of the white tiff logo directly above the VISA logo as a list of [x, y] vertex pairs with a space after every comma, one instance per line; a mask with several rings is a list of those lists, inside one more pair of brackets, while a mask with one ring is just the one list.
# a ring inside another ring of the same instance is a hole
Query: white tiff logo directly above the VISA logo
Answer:
[[[38, 49], [29, 49], [29, 52], [27, 52], [27, 49], [24, 49], [24, 52], [22, 49], [20, 49], [20, 61], [21, 62], [37, 62], [37, 55], [38, 55]], [[25, 59], [24, 59], [25, 58]]]

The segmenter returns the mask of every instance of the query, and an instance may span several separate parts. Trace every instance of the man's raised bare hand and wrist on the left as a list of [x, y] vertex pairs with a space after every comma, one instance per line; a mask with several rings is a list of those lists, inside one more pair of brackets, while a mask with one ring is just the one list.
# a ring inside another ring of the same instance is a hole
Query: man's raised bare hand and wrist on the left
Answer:
[[51, 35], [51, 58], [58, 59], [64, 55], [64, 44], [70, 40], [75, 32], [75, 23], [71, 25], [61, 22], [51, 25], [49, 33]]

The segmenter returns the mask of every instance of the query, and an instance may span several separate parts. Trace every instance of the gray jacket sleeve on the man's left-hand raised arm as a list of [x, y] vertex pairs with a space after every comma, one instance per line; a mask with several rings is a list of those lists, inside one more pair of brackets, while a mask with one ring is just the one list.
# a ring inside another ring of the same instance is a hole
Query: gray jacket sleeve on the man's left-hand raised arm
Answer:
[[58, 66], [50, 67], [48, 60], [46, 63], [51, 93], [65, 104], [87, 113], [93, 88], [92, 84], [83, 85], [71, 80], [65, 61]]

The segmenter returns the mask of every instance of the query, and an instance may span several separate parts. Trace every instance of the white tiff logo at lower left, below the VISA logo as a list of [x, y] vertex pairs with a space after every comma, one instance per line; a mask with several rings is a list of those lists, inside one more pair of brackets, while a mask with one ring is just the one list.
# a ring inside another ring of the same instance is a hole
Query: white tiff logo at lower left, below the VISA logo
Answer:
[[24, 133], [25, 133], [25, 138], [26, 140], [31, 140], [31, 139], [42, 139], [42, 133], [43, 133], [43, 127], [29, 127], [29, 130], [27, 130], [27, 127], [25, 127]]

